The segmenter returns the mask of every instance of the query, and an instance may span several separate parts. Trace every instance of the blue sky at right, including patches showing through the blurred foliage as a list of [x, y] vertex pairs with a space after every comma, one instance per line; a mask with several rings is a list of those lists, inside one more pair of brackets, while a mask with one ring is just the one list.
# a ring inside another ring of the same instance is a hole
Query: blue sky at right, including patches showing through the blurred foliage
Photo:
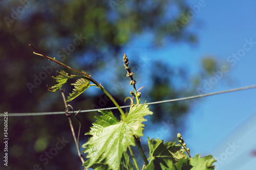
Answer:
[[[129, 54], [133, 48], [140, 48], [141, 55], [147, 55], [153, 61], [163, 60], [171, 65], [185, 65], [191, 74], [199, 71], [200, 60], [207, 55], [214, 56], [223, 65], [229, 63], [229, 71], [223, 74], [228, 79], [218, 80], [207, 92], [256, 84], [256, 2], [208, 0], [189, 1], [189, 4], [195, 6], [200, 2], [204, 2], [204, 7], [189, 25], [189, 30], [197, 33], [198, 45], [165, 43], [158, 50], [150, 49], [146, 42], [150, 41], [152, 36], [144, 34], [135, 39], [140, 39], [136, 47], [134, 42], [131, 42], [123, 52]], [[252, 43], [249, 44], [248, 41]], [[244, 45], [250, 49], [246, 48], [247, 51], [244, 51]], [[243, 52], [245, 53], [242, 54]], [[240, 53], [242, 57], [233, 58], [234, 53]], [[228, 59], [233, 62], [228, 62]], [[186, 132], [182, 134], [191, 155], [213, 154], [219, 158], [216, 169], [252, 169], [252, 162], [256, 160], [256, 157], [251, 155], [251, 152], [256, 150], [256, 128], [249, 122], [256, 120], [255, 96], [256, 89], [251, 89], [202, 99], [189, 113], [185, 125]], [[161, 127], [162, 123], [154, 128]], [[145, 127], [144, 138], [152, 134], [151, 128], [147, 128]], [[246, 144], [246, 135], [251, 139], [250, 145]], [[161, 139], [167, 137], [166, 133]], [[146, 141], [146, 138], [144, 140]], [[232, 144], [235, 147], [230, 148]]]

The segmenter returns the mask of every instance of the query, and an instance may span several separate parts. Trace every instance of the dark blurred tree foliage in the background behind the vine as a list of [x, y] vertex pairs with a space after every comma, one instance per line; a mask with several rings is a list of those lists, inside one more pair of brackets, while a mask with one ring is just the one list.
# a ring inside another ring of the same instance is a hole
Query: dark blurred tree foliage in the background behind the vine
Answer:
[[[184, 1], [0, 1], [0, 10], [2, 113], [65, 109], [60, 93], [47, 91], [47, 84], [55, 83], [51, 78], [56, 76], [55, 70], [63, 68], [33, 55], [30, 43], [45, 55], [103, 78], [100, 81], [103, 86], [105, 83], [111, 88], [112, 79], [126, 81], [122, 74], [125, 69], [118, 64], [114, 67], [119, 71], [110, 73], [108, 67], [116, 61], [121, 63], [123, 47], [136, 35], [153, 34], [154, 47], [161, 46], [163, 39], [170, 44], [196, 42], [196, 36], [186, 29], [189, 24], [181, 21], [181, 14], [189, 10]], [[158, 72], [153, 71], [148, 80], [151, 87], [145, 94], [142, 92], [142, 96], [158, 101], [195, 92], [193, 85], [185, 90], [174, 83], [175, 77], [180, 77], [183, 85], [189, 84], [184, 69], [174, 72], [166, 63], [154, 65]], [[113, 78], [110, 74], [121, 77]], [[67, 93], [72, 90], [71, 86], [65, 88]], [[122, 88], [114, 95], [120, 105], [129, 93], [125, 90]], [[75, 110], [113, 106], [99, 91], [79, 96], [70, 104]], [[158, 120], [166, 113], [178, 121], [189, 107], [190, 103], [173, 103], [154, 106], [153, 111]], [[88, 131], [94, 115], [95, 112], [79, 115], [83, 122], [81, 144], [87, 140], [83, 133]], [[77, 127], [75, 119], [74, 122]], [[41, 155], [55, 147], [58, 137], [69, 142], [49, 158], [49, 163], [40, 160]], [[81, 168], [79, 158], [71, 156], [71, 153], [76, 155], [76, 151], [65, 115], [9, 117], [9, 138], [11, 169], [35, 169], [36, 164], [42, 169]]]

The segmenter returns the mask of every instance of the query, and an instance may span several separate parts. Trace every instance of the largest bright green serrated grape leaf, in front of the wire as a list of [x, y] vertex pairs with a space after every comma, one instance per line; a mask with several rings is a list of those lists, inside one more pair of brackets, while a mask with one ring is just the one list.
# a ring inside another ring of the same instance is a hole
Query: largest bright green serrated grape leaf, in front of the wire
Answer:
[[83, 153], [88, 153], [86, 168], [95, 163], [109, 165], [109, 169], [119, 169], [123, 152], [129, 145], [135, 145], [134, 135], [143, 136], [142, 122], [145, 115], [153, 114], [147, 105], [133, 105], [124, 122], [120, 122], [111, 111], [100, 111], [102, 116], [95, 116], [91, 130], [86, 135], [92, 135], [83, 144]]

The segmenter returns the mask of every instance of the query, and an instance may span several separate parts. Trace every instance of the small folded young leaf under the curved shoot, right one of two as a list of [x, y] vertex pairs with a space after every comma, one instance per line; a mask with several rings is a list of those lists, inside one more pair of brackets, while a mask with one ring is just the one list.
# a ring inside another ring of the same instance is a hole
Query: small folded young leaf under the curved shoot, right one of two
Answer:
[[68, 99], [66, 102], [70, 102], [73, 99], [75, 99], [78, 95], [80, 95], [82, 92], [86, 91], [88, 87], [90, 87], [90, 82], [86, 79], [78, 79], [75, 83], [72, 83], [71, 85], [74, 85], [74, 89], [72, 93], [69, 93]]

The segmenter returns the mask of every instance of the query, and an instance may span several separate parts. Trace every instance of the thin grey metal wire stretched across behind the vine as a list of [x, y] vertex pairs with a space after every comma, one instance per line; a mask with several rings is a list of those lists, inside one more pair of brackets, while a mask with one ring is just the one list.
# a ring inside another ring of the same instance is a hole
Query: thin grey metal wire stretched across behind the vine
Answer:
[[[224, 90], [224, 91], [213, 92], [213, 93], [206, 93], [206, 94], [199, 94], [199, 95], [194, 95], [194, 96], [188, 96], [186, 98], [170, 99], [170, 100], [165, 100], [165, 101], [151, 102], [151, 103], [146, 103], [146, 104], [147, 105], [155, 105], [155, 104], [161, 104], [161, 103], [184, 101], [184, 100], [190, 100], [190, 99], [203, 98], [203, 97], [210, 96], [210, 95], [216, 95], [216, 94], [223, 94], [223, 93], [234, 92], [234, 91], [247, 90], [247, 89], [252, 89], [252, 88], [256, 88], [256, 85], [246, 86], [246, 87], [241, 87], [241, 88], [234, 88], [234, 89], [230, 89], [230, 90]], [[129, 108], [129, 107], [131, 107], [131, 106], [130, 105], [129, 106], [121, 106], [121, 108]], [[98, 110], [113, 110], [113, 109], [117, 109], [117, 107], [81, 110], [80, 113], [94, 112], [94, 111], [98, 111]], [[74, 111], [74, 112], [77, 112], [77, 111]], [[39, 116], [39, 115], [65, 114], [65, 113], [66, 112], [63, 112], [63, 111], [62, 112], [38, 112], [38, 113], [8, 113], [8, 116]], [[0, 114], [0, 117], [4, 117], [4, 114], [3, 113]]]

